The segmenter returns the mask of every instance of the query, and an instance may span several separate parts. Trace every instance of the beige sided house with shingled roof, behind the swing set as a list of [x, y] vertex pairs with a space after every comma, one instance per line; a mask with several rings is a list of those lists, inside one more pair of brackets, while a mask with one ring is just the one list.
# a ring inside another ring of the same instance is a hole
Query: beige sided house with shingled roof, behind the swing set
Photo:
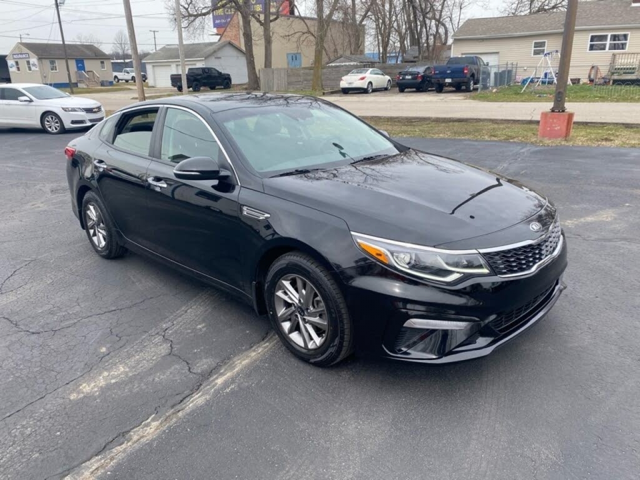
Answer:
[[[561, 50], [564, 16], [551, 12], [467, 20], [453, 35], [451, 54], [480, 56], [495, 70], [517, 63], [517, 76], [528, 76], [545, 52]], [[640, 0], [580, 1], [569, 76], [586, 81], [593, 65], [606, 73], [612, 53], [640, 54]], [[555, 56], [554, 67], [558, 60]]]

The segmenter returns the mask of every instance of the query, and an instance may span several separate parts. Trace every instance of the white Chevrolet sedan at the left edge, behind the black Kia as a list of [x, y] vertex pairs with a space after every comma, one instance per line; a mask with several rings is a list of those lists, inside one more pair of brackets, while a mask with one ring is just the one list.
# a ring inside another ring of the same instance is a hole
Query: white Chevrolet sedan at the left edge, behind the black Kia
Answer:
[[38, 83], [0, 84], [0, 127], [42, 127], [51, 134], [101, 122], [99, 102]]

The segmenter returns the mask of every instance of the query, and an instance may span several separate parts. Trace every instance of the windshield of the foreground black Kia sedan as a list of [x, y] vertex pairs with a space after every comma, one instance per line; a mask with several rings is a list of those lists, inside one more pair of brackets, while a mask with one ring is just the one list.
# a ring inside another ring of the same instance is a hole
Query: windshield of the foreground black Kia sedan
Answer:
[[216, 119], [253, 170], [264, 177], [399, 152], [362, 120], [317, 100], [236, 108], [216, 113]]

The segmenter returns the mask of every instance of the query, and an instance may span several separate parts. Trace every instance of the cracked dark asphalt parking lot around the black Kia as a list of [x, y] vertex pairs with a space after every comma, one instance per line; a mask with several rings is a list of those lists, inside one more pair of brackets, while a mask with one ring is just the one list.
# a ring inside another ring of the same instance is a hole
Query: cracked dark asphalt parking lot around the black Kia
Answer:
[[638, 478], [639, 150], [406, 140], [550, 196], [568, 289], [480, 360], [317, 369], [225, 294], [95, 255], [73, 137], [0, 132], [1, 479]]

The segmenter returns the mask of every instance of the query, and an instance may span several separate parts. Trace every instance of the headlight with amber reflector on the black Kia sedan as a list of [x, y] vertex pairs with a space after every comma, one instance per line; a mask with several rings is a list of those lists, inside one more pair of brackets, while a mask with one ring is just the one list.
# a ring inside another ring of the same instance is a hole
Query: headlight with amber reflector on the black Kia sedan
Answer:
[[476, 252], [457, 253], [353, 232], [351, 235], [356, 245], [378, 262], [420, 278], [451, 283], [465, 275], [491, 273], [482, 255]]

